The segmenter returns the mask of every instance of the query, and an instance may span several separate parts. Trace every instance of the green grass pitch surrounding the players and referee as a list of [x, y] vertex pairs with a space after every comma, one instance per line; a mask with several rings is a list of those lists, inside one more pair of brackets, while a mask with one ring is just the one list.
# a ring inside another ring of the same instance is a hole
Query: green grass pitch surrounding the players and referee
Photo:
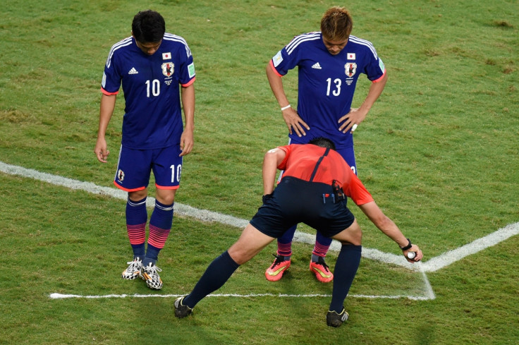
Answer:
[[[287, 143], [264, 67], [294, 35], [318, 30], [336, 4], [1, 1], [0, 162], [113, 188], [124, 102], [109, 126], [109, 163], [99, 164], [103, 66], [135, 13], [153, 8], [188, 41], [197, 68], [195, 149], [176, 201], [249, 219], [261, 201], [264, 152]], [[518, 2], [341, 5], [389, 75], [355, 131], [359, 176], [424, 262], [519, 222]], [[284, 83], [294, 105], [297, 72]], [[368, 87], [360, 80], [354, 106]], [[291, 271], [271, 284], [263, 272], [273, 244], [218, 293], [274, 296], [214, 296], [178, 320], [164, 296], [188, 293], [240, 229], [177, 214], [159, 260], [164, 289], [154, 292], [119, 278], [131, 255], [124, 200], [1, 172], [0, 186], [0, 344], [519, 343], [519, 236], [427, 272], [434, 298], [425, 300], [382, 298], [418, 296], [427, 284], [420, 272], [364, 258], [339, 329], [324, 323], [331, 285], [307, 270], [312, 247], [296, 243]], [[398, 254], [352, 210], [365, 248]], [[335, 258], [331, 251], [331, 267]]]

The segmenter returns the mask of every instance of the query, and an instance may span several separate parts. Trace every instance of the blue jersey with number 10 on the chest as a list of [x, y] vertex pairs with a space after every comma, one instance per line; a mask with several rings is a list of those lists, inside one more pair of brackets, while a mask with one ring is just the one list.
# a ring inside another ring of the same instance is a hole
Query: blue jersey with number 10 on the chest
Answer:
[[185, 40], [166, 33], [159, 49], [147, 55], [128, 37], [111, 48], [102, 92], [116, 95], [121, 83], [126, 102], [124, 147], [151, 150], [179, 145], [183, 132], [179, 85], [195, 81], [193, 56]]

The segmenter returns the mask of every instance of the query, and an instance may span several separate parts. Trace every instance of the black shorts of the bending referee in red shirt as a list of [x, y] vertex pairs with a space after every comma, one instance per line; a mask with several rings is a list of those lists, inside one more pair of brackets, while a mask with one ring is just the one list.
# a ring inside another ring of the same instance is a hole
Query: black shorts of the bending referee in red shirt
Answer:
[[334, 236], [353, 224], [355, 216], [346, 207], [346, 200], [334, 200], [333, 193], [326, 183], [285, 176], [250, 224], [274, 238], [298, 223], [312, 226], [323, 236]]

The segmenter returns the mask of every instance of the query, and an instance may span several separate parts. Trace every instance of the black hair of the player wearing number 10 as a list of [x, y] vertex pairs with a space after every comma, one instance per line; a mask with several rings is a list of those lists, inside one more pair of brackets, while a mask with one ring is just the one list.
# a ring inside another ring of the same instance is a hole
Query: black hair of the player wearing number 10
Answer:
[[160, 13], [152, 10], [140, 11], [133, 17], [132, 33], [141, 43], [160, 42], [166, 32], [166, 23]]

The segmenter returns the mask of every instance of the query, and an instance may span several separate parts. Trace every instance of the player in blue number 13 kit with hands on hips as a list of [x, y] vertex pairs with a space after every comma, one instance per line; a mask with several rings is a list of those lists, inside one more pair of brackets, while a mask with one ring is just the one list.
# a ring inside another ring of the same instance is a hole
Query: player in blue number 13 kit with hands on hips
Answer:
[[[350, 35], [353, 21], [341, 7], [329, 8], [321, 20], [320, 32], [298, 35], [267, 65], [267, 78], [281, 114], [288, 126], [289, 143], [305, 144], [318, 137], [334, 140], [337, 152], [357, 174], [353, 131], [365, 119], [386, 85], [384, 63], [373, 45]], [[298, 107], [288, 102], [281, 78], [298, 66]], [[352, 108], [353, 93], [360, 74], [372, 82], [359, 108]], [[278, 238], [274, 263], [265, 272], [275, 282], [291, 265], [291, 243], [295, 226]], [[331, 282], [324, 257], [331, 239], [317, 231], [310, 270], [320, 282]]]

